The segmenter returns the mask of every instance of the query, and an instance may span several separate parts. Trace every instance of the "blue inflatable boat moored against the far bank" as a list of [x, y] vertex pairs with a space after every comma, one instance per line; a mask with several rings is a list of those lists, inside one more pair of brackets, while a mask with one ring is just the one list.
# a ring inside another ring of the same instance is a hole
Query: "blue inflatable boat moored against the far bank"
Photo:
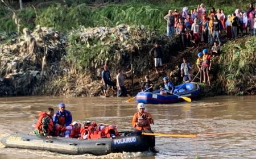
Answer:
[[[200, 94], [200, 88], [197, 83], [187, 82], [175, 86], [174, 93], [182, 97], [195, 99]], [[136, 100], [138, 103], [151, 103], [151, 104], [168, 104], [183, 102], [184, 99], [177, 95], [161, 95], [160, 91], [154, 92], [140, 92], [137, 94]]]

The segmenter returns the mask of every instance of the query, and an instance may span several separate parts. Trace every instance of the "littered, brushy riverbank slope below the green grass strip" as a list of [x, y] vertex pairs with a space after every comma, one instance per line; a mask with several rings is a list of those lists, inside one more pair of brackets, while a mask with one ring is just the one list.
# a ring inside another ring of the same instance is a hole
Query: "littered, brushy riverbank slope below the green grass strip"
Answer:
[[[57, 10], [65, 7], [68, 6], [59, 5]], [[113, 9], [117, 6], [109, 7]], [[138, 6], [136, 9], [143, 7]], [[52, 10], [49, 7], [49, 11]], [[159, 18], [162, 18], [162, 14], [158, 14]], [[45, 14], [40, 16], [40, 20], [47, 17]], [[48, 26], [51, 23], [40, 24]], [[162, 20], [157, 24], [165, 26]], [[106, 26], [109, 25], [106, 23]], [[179, 68], [183, 57], [193, 64], [192, 74], [196, 75], [197, 53], [204, 48], [211, 48], [209, 44], [200, 43], [196, 49], [188, 47], [183, 50], [178, 37], [168, 38], [160, 30], [152, 29], [152, 26], [151, 29], [144, 25], [117, 23], [112, 25], [114, 27], [106, 26], [88, 28], [78, 25], [63, 32], [61, 28], [57, 30], [59, 27], [38, 26], [32, 27], [32, 31], [23, 28], [19, 35], [14, 32], [2, 36], [0, 96], [99, 96], [102, 94], [100, 73], [105, 64], [109, 65], [112, 78], [117, 75], [118, 68], [130, 70], [133, 65], [133, 78], [127, 76], [126, 86], [129, 93], [135, 95], [140, 91], [141, 81], [146, 74], [155, 83], [155, 89], [159, 89], [163, 76], [170, 77], [175, 85], [180, 84]], [[56, 31], [59, 31], [58, 36], [55, 36]], [[154, 73], [153, 60], [148, 54], [156, 41], [164, 53], [162, 73]], [[255, 37], [238, 37], [227, 43], [225, 40], [224, 43], [221, 55], [213, 60], [210, 76], [212, 86], [200, 85], [201, 94], [206, 97], [222, 94], [255, 95]], [[109, 94], [114, 96], [115, 91]]]

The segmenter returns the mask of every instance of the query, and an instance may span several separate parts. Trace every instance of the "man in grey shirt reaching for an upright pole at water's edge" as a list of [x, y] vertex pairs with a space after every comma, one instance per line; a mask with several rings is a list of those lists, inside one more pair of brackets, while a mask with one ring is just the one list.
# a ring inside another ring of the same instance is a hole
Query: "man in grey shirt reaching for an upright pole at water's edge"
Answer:
[[117, 74], [117, 97], [131, 97], [130, 94], [127, 92], [126, 87], [125, 87], [125, 77], [123, 74], [128, 74], [131, 73], [132, 69], [129, 70], [128, 72], [123, 72], [122, 69], [118, 69], [118, 74]]

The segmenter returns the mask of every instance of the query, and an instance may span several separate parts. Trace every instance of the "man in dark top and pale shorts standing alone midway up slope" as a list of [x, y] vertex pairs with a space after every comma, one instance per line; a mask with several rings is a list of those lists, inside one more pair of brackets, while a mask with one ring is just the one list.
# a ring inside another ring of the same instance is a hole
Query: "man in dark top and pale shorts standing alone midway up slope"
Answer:
[[162, 67], [163, 65], [163, 62], [162, 62], [163, 52], [158, 42], [156, 42], [154, 44], [154, 47], [150, 50], [150, 55], [154, 57], [155, 72], [158, 73], [158, 68]]

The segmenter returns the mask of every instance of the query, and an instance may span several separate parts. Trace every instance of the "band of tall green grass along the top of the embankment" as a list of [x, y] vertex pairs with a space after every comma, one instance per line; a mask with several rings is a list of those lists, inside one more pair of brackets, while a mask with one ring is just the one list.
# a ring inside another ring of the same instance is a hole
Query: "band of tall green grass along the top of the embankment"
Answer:
[[[117, 24], [143, 24], [147, 28], [158, 30], [159, 34], [163, 34], [166, 25], [163, 16], [167, 14], [169, 9], [181, 10], [183, 6], [196, 8], [201, 1], [173, 1], [154, 3], [154, 1], [133, 1], [129, 3], [112, 4], [102, 7], [89, 7], [86, 3], [73, 3], [72, 6], [61, 5], [60, 3], [52, 3], [48, 7], [37, 9], [39, 18], [36, 20], [35, 11], [31, 6], [23, 10], [15, 10], [16, 16], [20, 19], [21, 30], [28, 27], [31, 30], [40, 24], [42, 27], [55, 27], [56, 30], [68, 32], [72, 28], [114, 27]], [[230, 1], [234, 3], [236, 1]], [[236, 5], [230, 6], [230, 3], [218, 1], [218, 3], [207, 2], [208, 10], [215, 6], [224, 9], [226, 14], [230, 14], [236, 9]], [[216, 3], [216, 4], [215, 4]], [[241, 2], [239, 3], [241, 4]], [[242, 9], [246, 10], [247, 3], [243, 3]], [[241, 5], [239, 6], [241, 8]], [[5, 5], [0, 7], [0, 31], [11, 32], [17, 31], [16, 24], [13, 19], [13, 12]]]

